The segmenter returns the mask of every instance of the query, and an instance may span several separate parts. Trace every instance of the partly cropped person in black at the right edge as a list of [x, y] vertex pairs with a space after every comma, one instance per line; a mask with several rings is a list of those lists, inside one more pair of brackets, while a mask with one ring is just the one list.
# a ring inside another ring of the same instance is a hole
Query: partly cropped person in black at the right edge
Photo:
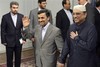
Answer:
[[96, 8], [95, 8], [95, 27], [98, 33], [98, 39], [97, 39], [97, 67], [100, 67], [100, 1], [96, 2]]

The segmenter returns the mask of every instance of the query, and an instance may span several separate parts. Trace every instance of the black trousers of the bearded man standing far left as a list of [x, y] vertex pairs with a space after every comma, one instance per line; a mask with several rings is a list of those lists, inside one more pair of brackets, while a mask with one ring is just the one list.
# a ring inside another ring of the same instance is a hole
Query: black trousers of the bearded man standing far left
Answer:
[[15, 47], [6, 46], [7, 67], [13, 67], [13, 58], [15, 61], [15, 67], [20, 67], [21, 51], [22, 51], [22, 45], [21, 46], [15, 45]]

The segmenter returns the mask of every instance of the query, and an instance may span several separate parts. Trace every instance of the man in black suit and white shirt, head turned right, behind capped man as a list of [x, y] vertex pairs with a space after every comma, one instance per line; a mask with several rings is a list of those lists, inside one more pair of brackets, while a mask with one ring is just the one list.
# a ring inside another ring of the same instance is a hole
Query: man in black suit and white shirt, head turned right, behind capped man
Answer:
[[61, 29], [61, 34], [65, 40], [67, 35], [67, 30], [70, 24], [73, 24], [72, 10], [70, 9], [70, 1], [62, 1], [63, 9], [61, 9], [56, 15], [56, 26]]

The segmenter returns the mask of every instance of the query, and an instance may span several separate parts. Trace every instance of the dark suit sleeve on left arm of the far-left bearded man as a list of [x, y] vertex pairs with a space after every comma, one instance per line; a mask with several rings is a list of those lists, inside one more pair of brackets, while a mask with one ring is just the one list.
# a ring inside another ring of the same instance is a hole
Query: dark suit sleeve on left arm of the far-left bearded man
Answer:
[[3, 16], [2, 21], [1, 21], [1, 43], [2, 44], [7, 43], [6, 42], [6, 26], [7, 26], [6, 19]]

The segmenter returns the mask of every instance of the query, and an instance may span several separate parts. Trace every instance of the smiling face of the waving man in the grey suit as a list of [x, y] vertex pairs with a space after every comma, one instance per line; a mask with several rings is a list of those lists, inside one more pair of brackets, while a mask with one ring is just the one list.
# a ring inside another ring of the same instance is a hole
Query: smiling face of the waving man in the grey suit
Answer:
[[47, 17], [45, 13], [38, 14], [38, 22], [44, 27], [49, 22], [49, 17]]

